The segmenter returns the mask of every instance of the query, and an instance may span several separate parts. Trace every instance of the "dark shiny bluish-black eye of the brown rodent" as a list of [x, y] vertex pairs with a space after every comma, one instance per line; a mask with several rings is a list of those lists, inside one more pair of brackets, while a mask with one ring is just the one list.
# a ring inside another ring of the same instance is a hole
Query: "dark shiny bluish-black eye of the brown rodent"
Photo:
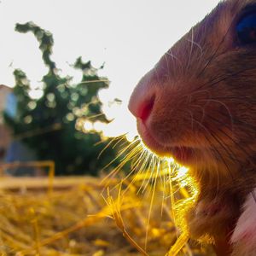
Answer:
[[236, 25], [240, 44], [256, 43], [256, 12], [245, 15]]

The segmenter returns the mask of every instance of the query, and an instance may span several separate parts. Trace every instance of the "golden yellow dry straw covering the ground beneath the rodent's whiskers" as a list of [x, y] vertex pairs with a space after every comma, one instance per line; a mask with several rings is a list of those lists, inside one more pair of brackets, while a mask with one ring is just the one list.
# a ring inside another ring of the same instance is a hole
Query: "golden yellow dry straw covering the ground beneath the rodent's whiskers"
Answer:
[[0, 255], [214, 255], [178, 232], [158, 183], [101, 180], [1, 177]]

